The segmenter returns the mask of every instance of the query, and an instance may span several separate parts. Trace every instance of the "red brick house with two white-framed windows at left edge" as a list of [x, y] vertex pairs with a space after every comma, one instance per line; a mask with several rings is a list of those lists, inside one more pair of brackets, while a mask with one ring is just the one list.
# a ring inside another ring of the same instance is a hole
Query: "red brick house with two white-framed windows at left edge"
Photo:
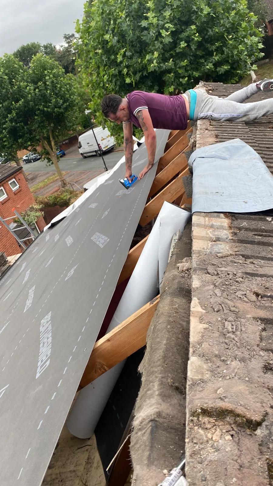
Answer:
[[[35, 203], [34, 197], [28, 187], [22, 167], [9, 164], [0, 165], [0, 216], [5, 219], [14, 215], [13, 208], [19, 213], [25, 211]], [[15, 216], [16, 217], [16, 216]], [[12, 220], [6, 223], [10, 225]], [[41, 231], [46, 225], [43, 218], [39, 218], [36, 226]], [[0, 224], [0, 252], [5, 252], [7, 257], [22, 253], [15, 237], [5, 226]]]

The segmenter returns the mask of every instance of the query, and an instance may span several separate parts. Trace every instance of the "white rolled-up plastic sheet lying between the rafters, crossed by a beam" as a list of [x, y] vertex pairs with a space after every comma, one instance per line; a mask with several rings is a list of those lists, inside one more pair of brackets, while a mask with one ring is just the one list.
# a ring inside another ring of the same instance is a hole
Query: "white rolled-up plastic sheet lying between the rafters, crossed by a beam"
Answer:
[[[172, 235], [184, 230], [190, 213], [164, 202], [149, 238], [136, 263], [107, 332], [152, 300], [158, 292], [158, 270], [162, 279], [168, 263]], [[115, 386], [125, 361], [108, 370], [80, 391], [68, 417], [71, 434], [90, 437]]]

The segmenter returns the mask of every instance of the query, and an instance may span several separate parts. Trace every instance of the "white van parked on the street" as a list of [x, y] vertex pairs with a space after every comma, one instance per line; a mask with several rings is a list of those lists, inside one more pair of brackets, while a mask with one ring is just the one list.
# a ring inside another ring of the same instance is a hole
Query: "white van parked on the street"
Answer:
[[[114, 137], [111, 137], [111, 134], [107, 128], [103, 129], [102, 126], [98, 126], [97, 128], [94, 128], [94, 133], [103, 154], [104, 152], [108, 152], [108, 150], [114, 148], [115, 146]], [[88, 132], [85, 132], [83, 133], [83, 135], [80, 135], [79, 142], [78, 142], [78, 149], [83, 158], [94, 154], [96, 154], [98, 157], [101, 156], [92, 130], [88, 130]]]

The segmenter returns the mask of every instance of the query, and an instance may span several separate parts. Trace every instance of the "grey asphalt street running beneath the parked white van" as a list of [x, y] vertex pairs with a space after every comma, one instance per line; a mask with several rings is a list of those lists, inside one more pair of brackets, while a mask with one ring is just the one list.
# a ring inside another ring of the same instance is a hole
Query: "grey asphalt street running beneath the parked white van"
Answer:
[[[78, 150], [78, 149], [77, 149]], [[93, 171], [104, 168], [102, 157], [97, 156], [89, 156], [87, 158], [83, 158], [80, 156], [79, 152], [78, 155], [75, 154], [75, 150], [71, 152], [71, 149], [67, 151], [67, 155], [62, 157], [59, 160], [59, 166], [61, 171]], [[116, 163], [120, 160], [123, 156], [123, 151], [120, 152], [109, 152], [108, 154], [104, 154], [103, 158], [105, 160], [105, 164], [107, 169], [112, 169]], [[37, 160], [36, 162], [31, 162], [29, 164], [22, 164], [23, 169], [26, 173], [28, 172], [52, 172], [54, 171], [53, 165], [46, 165], [45, 160]]]

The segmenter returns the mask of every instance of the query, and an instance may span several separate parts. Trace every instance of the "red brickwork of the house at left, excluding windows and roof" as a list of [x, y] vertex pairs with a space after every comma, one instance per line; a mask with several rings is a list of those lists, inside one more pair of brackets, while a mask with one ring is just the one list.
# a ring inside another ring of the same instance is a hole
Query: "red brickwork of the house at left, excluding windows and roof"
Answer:
[[[13, 191], [9, 185], [9, 181], [15, 179], [19, 188], [17, 191]], [[19, 213], [25, 211], [29, 206], [35, 203], [34, 197], [28, 187], [26, 179], [24, 178], [22, 171], [17, 172], [14, 175], [9, 176], [4, 181], [0, 182], [0, 187], [3, 187], [7, 196], [0, 201], [0, 216], [2, 218], [9, 218], [14, 215], [12, 211], [15, 208]], [[16, 216], [15, 216], [16, 217]], [[12, 220], [6, 221], [10, 224]], [[18, 246], [17, 240], [14, 236], [0, 224], [0, 251], [4, 251], [7, 257], [21, 253], [21, 249]], [[39, 218], [38, 228], [42, 230], [45, 226], [43, 218]]]

